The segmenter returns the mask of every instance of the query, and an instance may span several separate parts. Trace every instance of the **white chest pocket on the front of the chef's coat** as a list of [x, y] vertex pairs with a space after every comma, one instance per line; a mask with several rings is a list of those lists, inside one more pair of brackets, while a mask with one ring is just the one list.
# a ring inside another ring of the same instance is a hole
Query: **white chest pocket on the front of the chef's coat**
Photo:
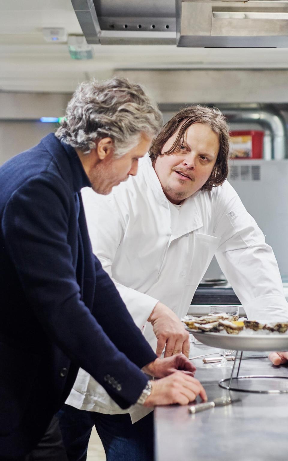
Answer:
[[199, 285], [203, 278], [219, 244], [221, 237], [208, 234], [194, 234], [194, 248], [192, 251], [192, 260], [187, 284]]

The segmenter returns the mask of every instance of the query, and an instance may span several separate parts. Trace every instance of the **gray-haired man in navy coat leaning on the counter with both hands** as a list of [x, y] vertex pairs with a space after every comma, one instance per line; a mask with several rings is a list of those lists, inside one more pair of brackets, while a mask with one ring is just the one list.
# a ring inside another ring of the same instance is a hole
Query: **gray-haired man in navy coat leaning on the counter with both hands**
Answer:
[[[206, 398], [188, 359], [157, 359], [135, 327], [92, 254], [80, 194], [84, 186], [108, 194], [135, 175], [161, 122], [138, 85], [82, 84], [56, 136], [0, 168], [2, 461], [39, 459], [39, 452], [66, 460], [53, 414], [79, 366], [122, 408]], [[141, 368], [163, 379], [151, 383]]]

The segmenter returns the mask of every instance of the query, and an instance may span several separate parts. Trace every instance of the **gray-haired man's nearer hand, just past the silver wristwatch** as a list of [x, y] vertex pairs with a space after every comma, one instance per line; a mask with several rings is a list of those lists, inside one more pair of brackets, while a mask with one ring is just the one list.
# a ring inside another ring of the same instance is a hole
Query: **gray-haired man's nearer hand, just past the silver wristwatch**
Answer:
[[152, 391], [144, 403], [145, 407], [172, 403], [187, 405], [189, 402], [193, 402], [197, 396], [207, 402], [205, 389], [198, 379], [182, 372], [175, 372], [166, 378], [151, 381], [151, 384]]

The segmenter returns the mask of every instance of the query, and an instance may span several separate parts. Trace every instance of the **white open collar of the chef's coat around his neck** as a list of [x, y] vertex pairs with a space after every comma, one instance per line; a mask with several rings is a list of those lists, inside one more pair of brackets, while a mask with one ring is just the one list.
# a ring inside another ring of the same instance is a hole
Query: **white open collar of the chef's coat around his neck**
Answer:
[[[150, 179], [150, 186], [153, 190], [156, 200], [159, 202], [160, 205], [167, 208], [170, 213], [169, 201], [163, 192], [161, 183], [156, 174], [156, 171], [153, 168], [152, 161], [148, 154], [146, 154], [143, 158], [143, 163], [147, 166], [147, 173]], [[195, 200], [195, 198], [200, 193], [201, 191], [197, 190], [197, 192], [195, 192], [193, 195], [191, 195], [182, 202], [182, 206], [178, 210], [178, 219], [173, 225], [172, 240], [182, 235], [188, 234], [189, 232], [195, 231], [196, 229], [200, 229], [200, 227], [203, 226], [203, 221], [197, 204], [198, 201]]]

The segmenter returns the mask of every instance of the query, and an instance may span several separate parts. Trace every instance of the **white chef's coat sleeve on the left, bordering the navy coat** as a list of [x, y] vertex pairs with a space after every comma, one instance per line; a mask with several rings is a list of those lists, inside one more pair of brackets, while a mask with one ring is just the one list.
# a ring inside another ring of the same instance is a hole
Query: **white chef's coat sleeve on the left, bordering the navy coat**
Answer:
[[112, 277], [112, 264], [127, 225], [123, 209], [112, 195], [99, 195], [90, 188], [82, 189], [81, 194], [93, 253], [112, 278], [135, 324], [143, 329], [159, 300], [120, 284]]

